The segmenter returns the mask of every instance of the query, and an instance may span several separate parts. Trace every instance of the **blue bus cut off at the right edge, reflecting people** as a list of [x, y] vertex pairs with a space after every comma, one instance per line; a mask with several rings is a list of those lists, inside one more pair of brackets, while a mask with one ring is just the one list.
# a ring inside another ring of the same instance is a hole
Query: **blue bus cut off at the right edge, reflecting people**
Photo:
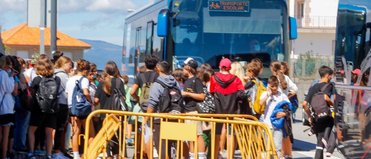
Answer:
[[339, 0], [335, 127], [345, 158], [371, 158], [370, 9], [370, 0]]

